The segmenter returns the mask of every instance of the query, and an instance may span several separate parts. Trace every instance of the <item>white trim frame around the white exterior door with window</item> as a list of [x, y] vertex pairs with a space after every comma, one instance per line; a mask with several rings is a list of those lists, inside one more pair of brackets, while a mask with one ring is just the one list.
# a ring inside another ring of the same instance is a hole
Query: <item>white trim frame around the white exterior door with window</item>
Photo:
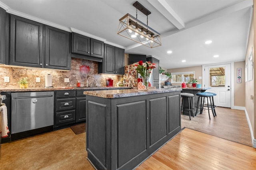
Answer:
[[215, 63], [215, 64], [204, 64], [202, 65], [202, 88], [205, 87], [205, 76], [204, 76], [204, 68], [206, 66], [215, 66], [215, 65], [222, 65], [222, 64], [230, 64], [230, 74], [231, 74], [231, 77], [230, 77], [230, 84], [231, 84], [231, 99], [230, 99], [230, 106], [231, 106], [231, 109], [235, 109], [235, 106], [234, 106], [234, 62], [228, 62], [228, 63]]

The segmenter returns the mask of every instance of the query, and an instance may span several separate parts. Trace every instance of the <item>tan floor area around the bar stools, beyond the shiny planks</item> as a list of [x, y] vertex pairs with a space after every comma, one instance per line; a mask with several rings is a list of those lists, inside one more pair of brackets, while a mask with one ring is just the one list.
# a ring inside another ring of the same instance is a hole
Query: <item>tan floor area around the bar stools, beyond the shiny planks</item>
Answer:
[[211, 119], [209, 119], [208, 111], [204, 110], [202, 114], [191, 117], [191, 121], [188, 115], [181, 115], [181, 127], [252, 147], [252, 137], [243, 110], [216, 107], [216, 113], [217, 116], [213, 117], [212, 112], [210, 112]]

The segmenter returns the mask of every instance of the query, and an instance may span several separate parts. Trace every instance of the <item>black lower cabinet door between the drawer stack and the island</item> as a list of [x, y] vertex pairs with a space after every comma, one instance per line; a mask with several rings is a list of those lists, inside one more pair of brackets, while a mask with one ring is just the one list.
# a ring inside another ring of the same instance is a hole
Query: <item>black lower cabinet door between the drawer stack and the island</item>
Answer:
[[86, 97], [76, 98], [76, 122], [86, 120]]

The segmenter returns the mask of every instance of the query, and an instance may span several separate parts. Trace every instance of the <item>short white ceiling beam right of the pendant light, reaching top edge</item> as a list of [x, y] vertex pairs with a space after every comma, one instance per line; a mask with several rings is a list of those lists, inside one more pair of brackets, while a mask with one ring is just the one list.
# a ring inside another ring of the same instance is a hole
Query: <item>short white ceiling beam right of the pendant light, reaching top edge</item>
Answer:
[[185, 28], [184, 21], [170, 7], [166, 0], [148, 0], [148, 2], [158, 10], [167, 20], [170, 21], [178, 29]]

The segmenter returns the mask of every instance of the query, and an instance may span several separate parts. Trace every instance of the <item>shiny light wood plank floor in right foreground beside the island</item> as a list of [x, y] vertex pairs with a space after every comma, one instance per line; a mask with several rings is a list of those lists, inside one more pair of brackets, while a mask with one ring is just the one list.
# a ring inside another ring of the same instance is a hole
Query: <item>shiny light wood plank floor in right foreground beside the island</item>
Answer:
[[256, 149], [184, 129], [136, 170], [255, 170]]

